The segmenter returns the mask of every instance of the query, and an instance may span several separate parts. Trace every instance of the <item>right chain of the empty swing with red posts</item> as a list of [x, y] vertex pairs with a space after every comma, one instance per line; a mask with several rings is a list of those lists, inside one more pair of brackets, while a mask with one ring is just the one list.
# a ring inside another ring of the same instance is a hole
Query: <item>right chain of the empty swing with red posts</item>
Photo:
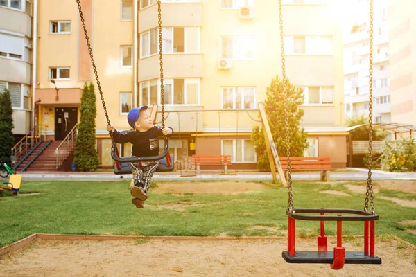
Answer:
[[374, 210], [374, 197], [372, 189], [372, 88], [373, 88], [373, 0], [370, 0], [370, 69], [369, 69], [369, 114], [368, 114], [368, 177], [367, 177], [367, 192], [365, 193], [365, 205], [364, 211], [368, 210], [368, 200], [370, 199], [370, 211], [372, 214], [375, 213]]

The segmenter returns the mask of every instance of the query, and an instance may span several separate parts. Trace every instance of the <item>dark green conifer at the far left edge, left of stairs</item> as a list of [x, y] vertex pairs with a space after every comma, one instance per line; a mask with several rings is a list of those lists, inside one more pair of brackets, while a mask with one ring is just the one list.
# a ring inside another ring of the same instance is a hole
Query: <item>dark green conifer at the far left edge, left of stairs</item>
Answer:
[[12, 148], [15, 143], [13, 136], [13, 108], [10, 91], [5, 89], [0, 91], [0, 159], [10, 164], [10, 156], [12, 155]]

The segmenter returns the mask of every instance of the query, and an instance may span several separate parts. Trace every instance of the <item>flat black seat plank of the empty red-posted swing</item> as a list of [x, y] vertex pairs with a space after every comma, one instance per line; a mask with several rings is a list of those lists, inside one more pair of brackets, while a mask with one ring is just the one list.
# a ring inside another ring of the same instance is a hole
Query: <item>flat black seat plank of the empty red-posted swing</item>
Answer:
[[[295, 251], [295, 256], [291, 256], [288, 251], [283, 251], [281, 256], [286, 262], [295, 264], [333, 263], [332, 251]], [[345, 265], [347, 264], [381, 265], [381, 258], [366, 256], [362, 251], [345, 251]]]

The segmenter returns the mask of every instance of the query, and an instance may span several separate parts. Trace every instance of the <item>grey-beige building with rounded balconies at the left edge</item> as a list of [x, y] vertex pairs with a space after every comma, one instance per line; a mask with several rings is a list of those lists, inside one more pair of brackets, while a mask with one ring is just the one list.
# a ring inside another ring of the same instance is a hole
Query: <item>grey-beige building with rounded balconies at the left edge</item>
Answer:
[[31, 123], [32, 3], [30, 0], [0, 1], [0, 93], [12, 98], [12, 130], [18, 140]]

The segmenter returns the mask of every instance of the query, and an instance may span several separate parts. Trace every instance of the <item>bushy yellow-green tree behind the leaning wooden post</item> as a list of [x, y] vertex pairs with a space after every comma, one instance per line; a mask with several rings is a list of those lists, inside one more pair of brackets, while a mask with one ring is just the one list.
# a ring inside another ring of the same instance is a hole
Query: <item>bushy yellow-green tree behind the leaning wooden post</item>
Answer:
[[[287, 112], [291, 157], [303, 157], [304, 150], [308, 147], [308, 135], [304, 132], [303, 128], [300, 128], [300, 120], [302, 120], [302, 116], [304, 115], [303, 109], [300, 109], [300, 105], [304, 102], [303, 89], [295, 87], [291, 82], [286, 80], [286, 90], [288, 91]], [[266, 90], [264, 104], [270, 131], [277, 145], [279, 157], [286, 157], [285, 97], [283, 81], [279, 76], [276, 76], [276, 78], [272, 79], [270, 86]], [[254, 144], [254, 150], [257, 153], [257, 168], [260, 170], [270, 170], [263, 130], [259, 126], [253, 128], [251, 139]]]

